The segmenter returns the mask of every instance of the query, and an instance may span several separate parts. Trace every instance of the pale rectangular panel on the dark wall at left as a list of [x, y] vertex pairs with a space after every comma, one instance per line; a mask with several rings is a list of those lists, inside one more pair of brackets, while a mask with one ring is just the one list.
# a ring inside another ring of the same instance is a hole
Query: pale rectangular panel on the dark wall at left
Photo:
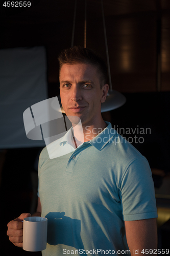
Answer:
[[28, 139], [23, 125], [23, 112], [48, 98], [45, 48], [0, 50], [0, 86], [0, 148], [45, 146]]

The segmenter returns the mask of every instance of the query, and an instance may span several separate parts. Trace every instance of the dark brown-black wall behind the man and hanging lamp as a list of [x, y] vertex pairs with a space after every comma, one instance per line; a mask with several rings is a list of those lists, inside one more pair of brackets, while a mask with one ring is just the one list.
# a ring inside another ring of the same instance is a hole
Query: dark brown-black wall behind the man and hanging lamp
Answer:
[[[57, 56], [71, 46], [75, 1], [30, 2], [31, 7], [14, 8], [4, 7], [1, 1], [0, 49], [45, 46], [50, 98], [59, 94]], [[148, 158], [155, 186], [159, 187], [169, 174], [170, 2], [103, 2], [112, 86], [127, 98], [125, 105], [103, 113], [103, 117], [116, 128], [123, 127], [124, 137], [133, 138], [132, 144]], [[74, 45], [84, 46], [84, 1], [77, 2]], [[87, 48], [99, 52], [106, 60], [100, 0], [87, 1]], [[150, 127], [151, 133], [133, 134], [132, 129], [137, 127]], [[126, 128], [131, 129], [131, 134], [126, 133]], [[144, 142], [135, 143], [134, 136], [142, 136]], [[21, 212], [33, 210], [36, 204], [34, 181], [40, 150], [7, 148], [1, 151], [2, 255], [30, 254], [15, 248], [8, 241], [6, 231], [8, 221]], [[22, 156], [19, 160], [18, 155]], [[169, 201], [166, 206], [169, 207]]]

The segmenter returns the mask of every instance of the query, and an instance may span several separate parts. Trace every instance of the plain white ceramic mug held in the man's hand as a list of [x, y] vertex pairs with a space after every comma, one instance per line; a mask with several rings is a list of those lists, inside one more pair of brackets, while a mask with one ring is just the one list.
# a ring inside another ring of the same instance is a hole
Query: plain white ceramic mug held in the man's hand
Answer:
[[46, 248], [47, 219], [28, 217], [23, 219], [23, 244], [26, 251], [42, 251]]

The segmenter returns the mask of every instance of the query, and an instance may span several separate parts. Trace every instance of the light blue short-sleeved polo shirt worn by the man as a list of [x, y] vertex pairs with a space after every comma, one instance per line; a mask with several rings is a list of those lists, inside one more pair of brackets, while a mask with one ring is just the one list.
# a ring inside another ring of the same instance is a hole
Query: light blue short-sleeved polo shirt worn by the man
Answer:
[[157, 218], [148, 161], [106, 123], [76, 150], [68, 131], [48, 148], [59, 157], [50, 159], [46, 147], [40, 154], [38, 196], [48, 219], [43, 256], [126, 251], [124, 220]]

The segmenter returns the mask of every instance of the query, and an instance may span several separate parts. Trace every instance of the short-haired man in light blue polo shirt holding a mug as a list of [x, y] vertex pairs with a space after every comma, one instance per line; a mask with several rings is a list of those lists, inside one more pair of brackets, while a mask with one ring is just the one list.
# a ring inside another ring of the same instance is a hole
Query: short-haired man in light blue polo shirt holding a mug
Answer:
[[[72, 146], [72, 152], [54, 159], [46, 147], [41, 152], [35, 215], [48, 219], [43, 256], [143, 255], [157, 249], [148, 161], [101, 116], [108, 92], [103, 60], [73, 47], [60, 54], [59, 62], [62, 106], [67, 116], [81, 119], [84, 138], [75, 143], [76, 130], [74, 137], [68, 131], [55, 147], [67, 152]], [[16, 246], [22, 247], [21, 221], [28, 216], [8, 223], [7, 234]]]

